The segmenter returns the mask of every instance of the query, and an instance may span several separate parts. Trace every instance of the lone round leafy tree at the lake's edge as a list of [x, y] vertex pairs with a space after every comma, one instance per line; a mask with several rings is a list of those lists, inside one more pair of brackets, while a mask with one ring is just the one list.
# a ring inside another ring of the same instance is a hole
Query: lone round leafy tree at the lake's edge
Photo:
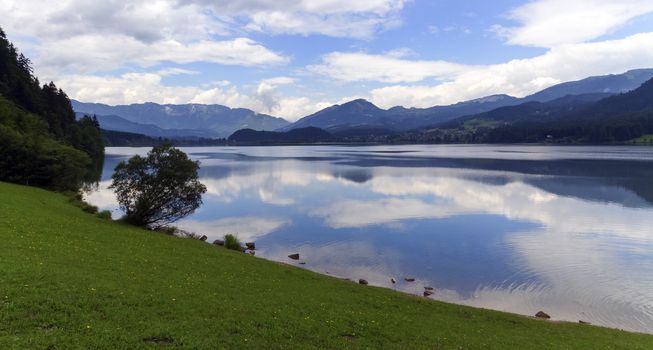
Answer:
[[138, 226], [160, 228], [195, 211], [206, 186], [199, 182], [199, 162], [171, 145], [154, 147], [147, 157], [120, 162], [109, 188], [116, 192], [125, 219]]

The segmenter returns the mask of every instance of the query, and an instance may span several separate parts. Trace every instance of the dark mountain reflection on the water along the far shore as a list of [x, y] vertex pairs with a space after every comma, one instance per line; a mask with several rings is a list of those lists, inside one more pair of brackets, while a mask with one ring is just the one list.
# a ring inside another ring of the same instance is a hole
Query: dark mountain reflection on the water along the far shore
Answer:
[[[613, 159], [493, 159], [493, 158], [445, 158], [411, 156], [397, 151], [391, 157], [386, 152], [333, 152], [321, 156], [241, 154], [241, 153], [195, 153], [195, 156], [238, 161], [247, 171], [251, 162], [301, 161], [337, 162], [342, 166], [330, 167], [331, 175], [354, 183], [366, 183], [374, 177], [368, 168], [445, 168], [474, 169], [493, 172], [511, 172], [527, 176], [523, 182], [545, 191], [589, 201], [619, 203], [628, 207], [653, 205], [653, 162], [643, 160]], [[208, 165], [208, 164], [207, 164]], [[205, 167], [204, 175], [215, 177], [217, 169]], [[227, 168], [220, 169], [227, 176]], [[250, 170], [251, 171], [251, 170]], [[307, 170], [308, 171], [308, 170]], [[467, 179], [488, 184], [504, 185], [511, 181], [500, 174], [466, 174]]]

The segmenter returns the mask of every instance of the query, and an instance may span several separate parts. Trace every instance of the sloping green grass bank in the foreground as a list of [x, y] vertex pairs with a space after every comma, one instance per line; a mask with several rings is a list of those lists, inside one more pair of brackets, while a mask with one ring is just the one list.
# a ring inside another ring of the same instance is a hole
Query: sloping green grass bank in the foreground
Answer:
[[362, 286], [0, 183], [0, 349], [652, 349], [653, 336]]

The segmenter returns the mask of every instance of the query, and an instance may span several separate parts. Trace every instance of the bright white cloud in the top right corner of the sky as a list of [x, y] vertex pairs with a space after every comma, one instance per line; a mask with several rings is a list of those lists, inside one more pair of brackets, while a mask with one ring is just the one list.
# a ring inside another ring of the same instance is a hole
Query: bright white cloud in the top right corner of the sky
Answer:
[[510, 44], [555, 47], [599, 38], [650, 12], [650, 0], [535, 0], [508, 14], [519, 26], [492, 30]]

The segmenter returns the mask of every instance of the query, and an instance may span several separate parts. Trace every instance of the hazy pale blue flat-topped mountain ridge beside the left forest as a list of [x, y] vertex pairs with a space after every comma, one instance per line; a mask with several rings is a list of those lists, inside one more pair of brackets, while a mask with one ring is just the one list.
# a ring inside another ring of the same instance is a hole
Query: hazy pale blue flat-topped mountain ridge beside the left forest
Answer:
[[[82, 103], [72, 101], [73, 109], [78, 113], [95, 114], [111, 125], [111, 130], [136, 132], [148, 136], [201, 136], [227, 137], [234, 131], [250, 128], [255, 130], [275, 130], [288, 125], [282, 119], [266, 114], [259, 114], [245, 108], [229, 108], [221, 105], [160, 105], [143, 103], [132, 105], [109, 106], [100, 103]], [[127, 124], [116, 117], [128, 122]], [[152, 128], [159, 128], [160, 131]], [[108, 128], [108, 127], [107, 127]], [[179, 131], [191, 132], [180, 135]]]

